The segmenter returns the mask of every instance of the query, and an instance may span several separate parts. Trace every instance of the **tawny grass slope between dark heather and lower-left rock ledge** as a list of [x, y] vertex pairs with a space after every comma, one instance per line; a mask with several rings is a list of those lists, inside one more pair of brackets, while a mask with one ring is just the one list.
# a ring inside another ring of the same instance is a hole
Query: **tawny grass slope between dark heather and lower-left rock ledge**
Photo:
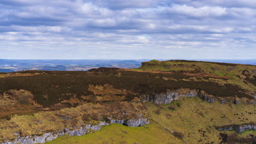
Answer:
[[77, 107], [61, 110], [39, 111], [36, 113], [13, 115], [10, 119], [0, 119], [0, 140], [20, 136], [42, 135], [64, 128], [74, 128], [86, 124], [97, 124], [110, 119], [132, 119], [147, 117], [141, 103], [113, 101], [111, 103], [85, 103]]

